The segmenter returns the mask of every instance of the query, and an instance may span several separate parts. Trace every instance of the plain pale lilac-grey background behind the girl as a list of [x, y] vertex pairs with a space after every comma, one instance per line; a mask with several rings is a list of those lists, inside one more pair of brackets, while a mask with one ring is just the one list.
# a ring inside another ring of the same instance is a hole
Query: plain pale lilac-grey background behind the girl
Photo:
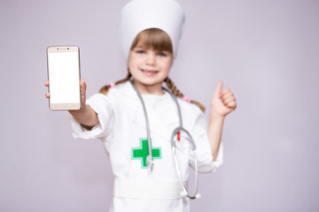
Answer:
[[[117, 1], [0, 2], [0, 211], [107, 211], [113, 176], [99, 140], [74, 140], [52, 112], [45, 49], [81, 48], [88, 96], [126, 75]], [[319, 1], [180, 1], [170, 76], [209, 106], [219, 79], [237, 98], [225, 163], [201, 174], [193, 211], [319, 211]], [[206, 112], [206, 116], [208, 113]]]

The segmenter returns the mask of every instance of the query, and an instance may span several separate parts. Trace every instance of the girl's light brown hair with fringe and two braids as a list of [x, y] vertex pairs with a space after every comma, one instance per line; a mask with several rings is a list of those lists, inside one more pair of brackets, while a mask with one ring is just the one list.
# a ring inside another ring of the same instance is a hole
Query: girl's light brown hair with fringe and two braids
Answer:
[[[157, 51], [168, 51], [171, 54], [173, 54], [173, 46], [172, 42], [163, 30], [159, 28], [148, 28], [140, 32], [139, 34], [136, 35], [136, 38], [132, 42], [132, 46], [130, 50], [136, 48], [136, 45], [140, 42], [143, 41], [143, 46], [145, 49], [154, 49]], [[128, 81], [131, 78], [131, 74], [128, 70], [128, 75], [124, 79], [120, 79], [115, 82], [115, 85], [122, 84], [126, 81]], [[174, 82], [169, 79], [168, 77], [164, 79], [164, 82], [166, 83], [167, 87], [170, 89], [173, 95], [183, 98], [184, 95], [181, 93], [177, 87], [175, 87]], [[106, 85], [100, 89], [100, 93], [106, 95], [108, 90], [110, 89], [110, 85]], [[196, 104], [200, 110], [205, 112], [205, 107], [199, 102], [191, 100], [191, 103]]]

